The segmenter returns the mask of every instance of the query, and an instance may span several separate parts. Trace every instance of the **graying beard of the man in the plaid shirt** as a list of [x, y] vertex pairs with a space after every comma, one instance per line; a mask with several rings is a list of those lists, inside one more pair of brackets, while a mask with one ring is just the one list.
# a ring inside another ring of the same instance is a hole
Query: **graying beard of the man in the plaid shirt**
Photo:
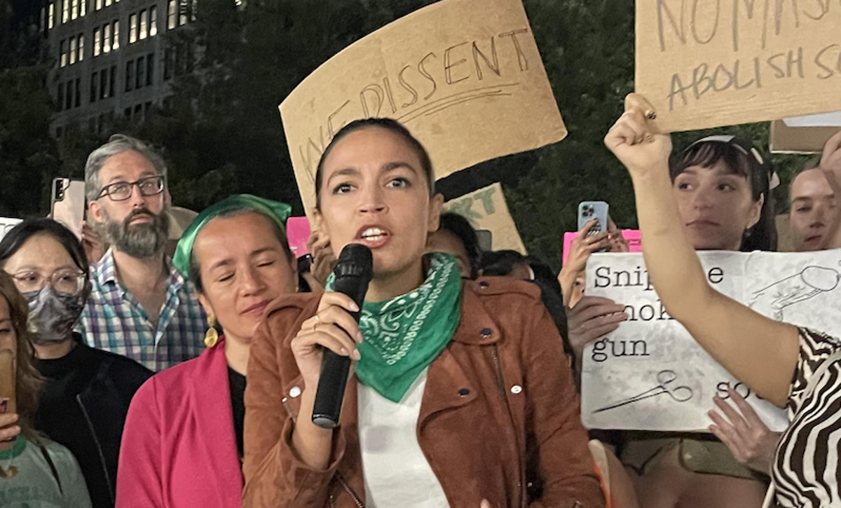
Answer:
[[104, 237], [109, 244], [130, 257], [136, 259], [153, 257], [161, 253], [167, 246], [167, 239], [169, 238], [168, 208], [165, 207], [159, 215], [151, 214], [151, 223], [135, 225], [129, 224], [135, 217], [134, 213], [126, 217], [124, 222], [118, 222], [111, 220], [108, 212], [103, 209]]

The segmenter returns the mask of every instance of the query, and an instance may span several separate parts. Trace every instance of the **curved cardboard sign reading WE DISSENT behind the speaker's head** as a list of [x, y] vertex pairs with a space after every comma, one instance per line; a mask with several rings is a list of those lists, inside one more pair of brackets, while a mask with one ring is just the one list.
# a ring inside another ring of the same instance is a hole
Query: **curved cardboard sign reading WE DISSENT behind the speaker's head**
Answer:
[[333, 135], [389, 117], [426, 146], [436, 178], [567, 134], [521, 0], [443, 0], [342, 50], [280, 105], [304, 208]]

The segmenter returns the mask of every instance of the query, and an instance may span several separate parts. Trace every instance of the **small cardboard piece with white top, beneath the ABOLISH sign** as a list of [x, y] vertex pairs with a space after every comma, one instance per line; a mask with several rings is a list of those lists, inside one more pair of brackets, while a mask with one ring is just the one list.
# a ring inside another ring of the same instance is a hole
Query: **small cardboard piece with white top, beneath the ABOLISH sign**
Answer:
[[822, 153], [841, 130], [841, 111], [771, 122], [771, 153]]

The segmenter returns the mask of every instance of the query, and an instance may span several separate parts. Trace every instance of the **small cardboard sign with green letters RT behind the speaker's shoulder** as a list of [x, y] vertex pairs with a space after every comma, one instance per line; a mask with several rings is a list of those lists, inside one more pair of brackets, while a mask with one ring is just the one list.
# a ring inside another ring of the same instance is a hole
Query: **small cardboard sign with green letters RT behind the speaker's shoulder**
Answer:
[[526, 254], [526, 246], [511, 218], [499, 183], [447, 201], [444, 211], [463, 215], [474, 229], [489, 230], [495, 251], [511, 250]]

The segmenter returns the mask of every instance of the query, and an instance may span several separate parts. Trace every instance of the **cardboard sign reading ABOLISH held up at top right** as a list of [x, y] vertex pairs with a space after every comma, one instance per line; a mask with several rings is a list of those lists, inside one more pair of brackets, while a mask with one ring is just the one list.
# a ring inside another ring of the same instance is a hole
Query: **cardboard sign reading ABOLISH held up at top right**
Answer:
[[637, 0], [637, 92], [663, 130], [841, 109], [841, 5]]

